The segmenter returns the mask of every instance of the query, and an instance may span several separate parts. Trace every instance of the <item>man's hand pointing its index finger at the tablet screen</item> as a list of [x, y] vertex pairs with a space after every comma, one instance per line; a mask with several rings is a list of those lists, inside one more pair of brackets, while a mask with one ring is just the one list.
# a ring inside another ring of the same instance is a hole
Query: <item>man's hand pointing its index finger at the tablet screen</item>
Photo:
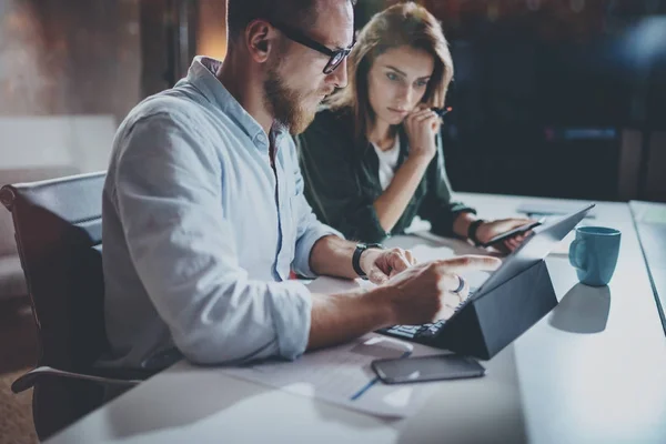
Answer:
[[392, 324], [418, 325], [451, 317], [470, 295], [466, 282], [461, 292], [453, 293], [461, 284], [458, 273], [493, 271], [501, 264], [497, 258], [466, 255], [423, 262], [396, 274], [381, 287], [393, 306]]

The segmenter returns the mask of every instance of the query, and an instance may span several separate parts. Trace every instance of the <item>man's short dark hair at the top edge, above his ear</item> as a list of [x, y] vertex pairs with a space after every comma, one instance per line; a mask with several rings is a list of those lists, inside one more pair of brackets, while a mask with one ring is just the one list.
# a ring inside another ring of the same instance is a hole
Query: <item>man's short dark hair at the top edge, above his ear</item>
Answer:
[[[352, 6], [356, 4], [356, 0], [349, 1]], [[282, 22], [306, 30], [315, 22], [316, 3], [317, 0], [229, 0], [229, 37], [236, 38], [255, 19]]]

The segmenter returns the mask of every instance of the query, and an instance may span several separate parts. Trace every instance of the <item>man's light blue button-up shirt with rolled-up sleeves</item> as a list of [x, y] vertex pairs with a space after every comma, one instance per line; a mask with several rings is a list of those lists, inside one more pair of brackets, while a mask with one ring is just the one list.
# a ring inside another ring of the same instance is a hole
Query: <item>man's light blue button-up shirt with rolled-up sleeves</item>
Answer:
[[273, 172], [265, 132], [213, 74], [220, 63], [195, 58], [115, 135], [103, 193], [104, 365], [305, 351], [311, 295], [290, 269], [314, 278], [312, 246], [340, 234], [314, 216], [280, 130]]

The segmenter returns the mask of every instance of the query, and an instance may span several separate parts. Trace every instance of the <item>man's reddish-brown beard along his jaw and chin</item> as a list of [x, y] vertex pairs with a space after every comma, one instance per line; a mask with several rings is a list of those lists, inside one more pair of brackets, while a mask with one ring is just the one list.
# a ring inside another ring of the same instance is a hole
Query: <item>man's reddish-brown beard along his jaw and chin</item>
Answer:
[[305, 108], [307, 99], [314, 94], [303, 94], [289, 88], [278, 72], [279, 67], [271, 68], [264, 81], [264, 104], [273, 114], [278, 124], [286, 127], [292, 135], [300, 134], [312, 123], [316, 107]]

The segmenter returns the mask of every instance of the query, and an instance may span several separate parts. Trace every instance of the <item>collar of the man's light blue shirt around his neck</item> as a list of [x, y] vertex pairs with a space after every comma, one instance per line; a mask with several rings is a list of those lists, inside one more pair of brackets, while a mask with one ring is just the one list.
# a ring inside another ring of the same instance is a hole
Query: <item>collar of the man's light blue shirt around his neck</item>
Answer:
[[[265, 148], [268, 150], [269, 140], [266, 140], [263, 128], [216, 78], [215, 73], [221, 67], [221, 60], [196, 56], [192, 60], [186, 78], [179, 81], [176, 87], [183, 83], [192, 84], [211, 104], [230, 115], [258, 148]], [[287, 129], [279, 124], [274, 124], [271, 132], [275, 140], [275, 147], [279, 147], [283, 138], [289, 134]]]

